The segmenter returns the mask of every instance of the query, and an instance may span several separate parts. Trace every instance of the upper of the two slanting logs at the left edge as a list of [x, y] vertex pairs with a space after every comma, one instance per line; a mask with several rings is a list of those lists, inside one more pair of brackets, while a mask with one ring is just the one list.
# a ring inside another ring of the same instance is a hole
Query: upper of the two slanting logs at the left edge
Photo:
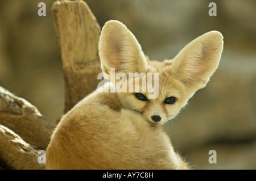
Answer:
[[5, 125], [36, 149], [46, 149], [55, 123], [23, 98], [0, 87], [0, 124]]

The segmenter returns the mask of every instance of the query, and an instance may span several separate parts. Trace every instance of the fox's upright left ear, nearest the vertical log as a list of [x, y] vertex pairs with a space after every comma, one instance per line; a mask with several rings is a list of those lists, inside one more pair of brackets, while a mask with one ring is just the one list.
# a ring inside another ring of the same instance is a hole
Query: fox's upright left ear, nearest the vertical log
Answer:
[[146, 57], [141, 45], [124, 24], [117, 20], [106, 22], [100, 36], [101, 69], [109, 74], [110, 68], [115, 73], [141, 73], [146, 66]]

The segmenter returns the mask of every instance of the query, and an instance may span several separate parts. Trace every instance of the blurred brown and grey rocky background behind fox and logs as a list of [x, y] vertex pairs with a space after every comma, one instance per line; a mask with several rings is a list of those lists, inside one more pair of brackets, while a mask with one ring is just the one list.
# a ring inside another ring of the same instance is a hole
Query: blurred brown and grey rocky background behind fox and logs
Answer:
[[[38, 16], [38, 3], [46, 16]], [[63, 115], [64, 80], [50, 0], [0, 1], [0, 86], [49, 119]], [[216, 2], [217, 16], [209, 16]], [[256, 1], [87, 0], [100, 26], [126, 24], [151, 60], [174, 58], [197, 36], [224, 36], [220, 65], [174, 120], [164, 125], [195, 169], [256, 169]], [[1, 112], [0, 112], [1, 113]], [[210, 164], [209, 150], [217, 163]]]

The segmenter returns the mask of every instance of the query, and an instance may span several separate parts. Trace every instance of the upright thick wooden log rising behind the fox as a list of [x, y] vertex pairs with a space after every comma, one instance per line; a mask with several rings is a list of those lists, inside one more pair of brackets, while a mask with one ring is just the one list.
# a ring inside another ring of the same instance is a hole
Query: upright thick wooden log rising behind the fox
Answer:
[[56, 1], [52, 14], [63, 64], [64, 112], [67, 112], [100, 82], [97, 75], [101, 72], [98, 56], [101, 30], [84, 1]]

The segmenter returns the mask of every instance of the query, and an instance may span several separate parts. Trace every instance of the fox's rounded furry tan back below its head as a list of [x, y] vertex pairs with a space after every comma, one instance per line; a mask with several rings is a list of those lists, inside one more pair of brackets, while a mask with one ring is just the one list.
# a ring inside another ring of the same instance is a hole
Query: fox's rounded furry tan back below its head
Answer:
[[47, 148], [47, 169], [177, 168], [180, 160], [161, 127], [134, 111], [88, 102], [82, 100], [60, 121]]

